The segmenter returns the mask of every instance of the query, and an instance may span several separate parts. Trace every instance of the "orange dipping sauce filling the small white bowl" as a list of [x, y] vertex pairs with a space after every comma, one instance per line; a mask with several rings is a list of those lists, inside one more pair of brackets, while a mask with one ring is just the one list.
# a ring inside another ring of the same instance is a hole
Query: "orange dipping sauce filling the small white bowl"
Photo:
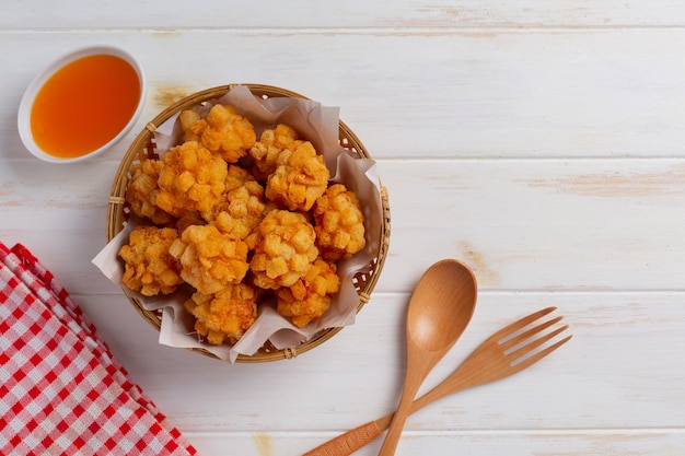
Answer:
[[46, 153], [72, 159], [113, 140], [136, 113], [140, 81], [124, 59], [82, 57], [53, 74], [31, 110], [31, 131]]

